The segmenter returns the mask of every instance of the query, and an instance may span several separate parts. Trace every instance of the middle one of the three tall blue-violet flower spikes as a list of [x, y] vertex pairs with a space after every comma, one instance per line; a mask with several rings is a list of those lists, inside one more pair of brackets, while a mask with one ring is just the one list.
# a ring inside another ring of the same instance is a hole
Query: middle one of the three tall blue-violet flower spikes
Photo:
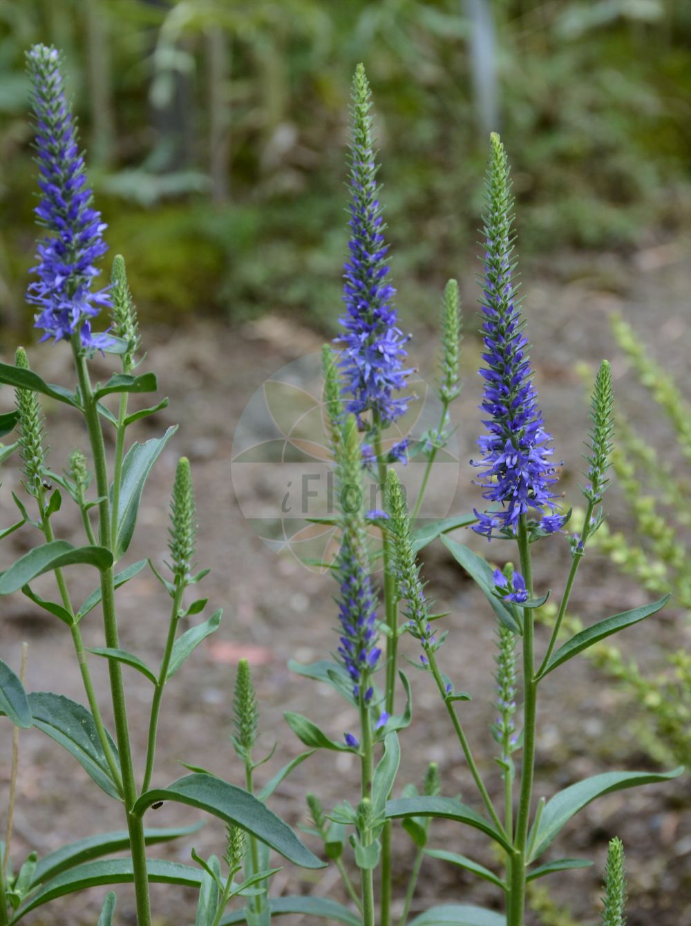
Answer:
[[344, 346], [340, 361], [346, 410], [358, 416], [371, 412], [373, 423], [385, 428], [408, 410], [411, 396], [403, 389], [410, 370], [403, 369], [408, 338], [396, 327], [395, 293], [385, 263], [385, 225], [379, 200], [377, 165], [371, 130], [370, 85], [361, 64], [353, 79], [350, 141], [350, 242], [345, 262], [345, 328], [337, 340]]

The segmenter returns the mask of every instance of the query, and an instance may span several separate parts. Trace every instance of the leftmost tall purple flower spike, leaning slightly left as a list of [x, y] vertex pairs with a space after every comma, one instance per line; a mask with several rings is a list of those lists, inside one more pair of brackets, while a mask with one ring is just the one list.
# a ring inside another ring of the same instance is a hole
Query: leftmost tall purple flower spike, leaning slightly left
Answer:
[[94, 266], [107, 251], [106, 226], [92, 207], [77, 128], [65, 97], [57, 49], [34, 45], [27, 55], [32, 82], [32, 109], [36, 131], [41, 202], [35, 213], [47, 234], [38, 244], [39, 263], [31, 269], [27, 300], [40, 311], [35, 327], [41, 338], [69, 340], [79, 332], [82, 346], [103, 349], [107, 334], [94, 334], [91, 319], [110, 305], [106, 290], [92, 292], [99, 270]]

